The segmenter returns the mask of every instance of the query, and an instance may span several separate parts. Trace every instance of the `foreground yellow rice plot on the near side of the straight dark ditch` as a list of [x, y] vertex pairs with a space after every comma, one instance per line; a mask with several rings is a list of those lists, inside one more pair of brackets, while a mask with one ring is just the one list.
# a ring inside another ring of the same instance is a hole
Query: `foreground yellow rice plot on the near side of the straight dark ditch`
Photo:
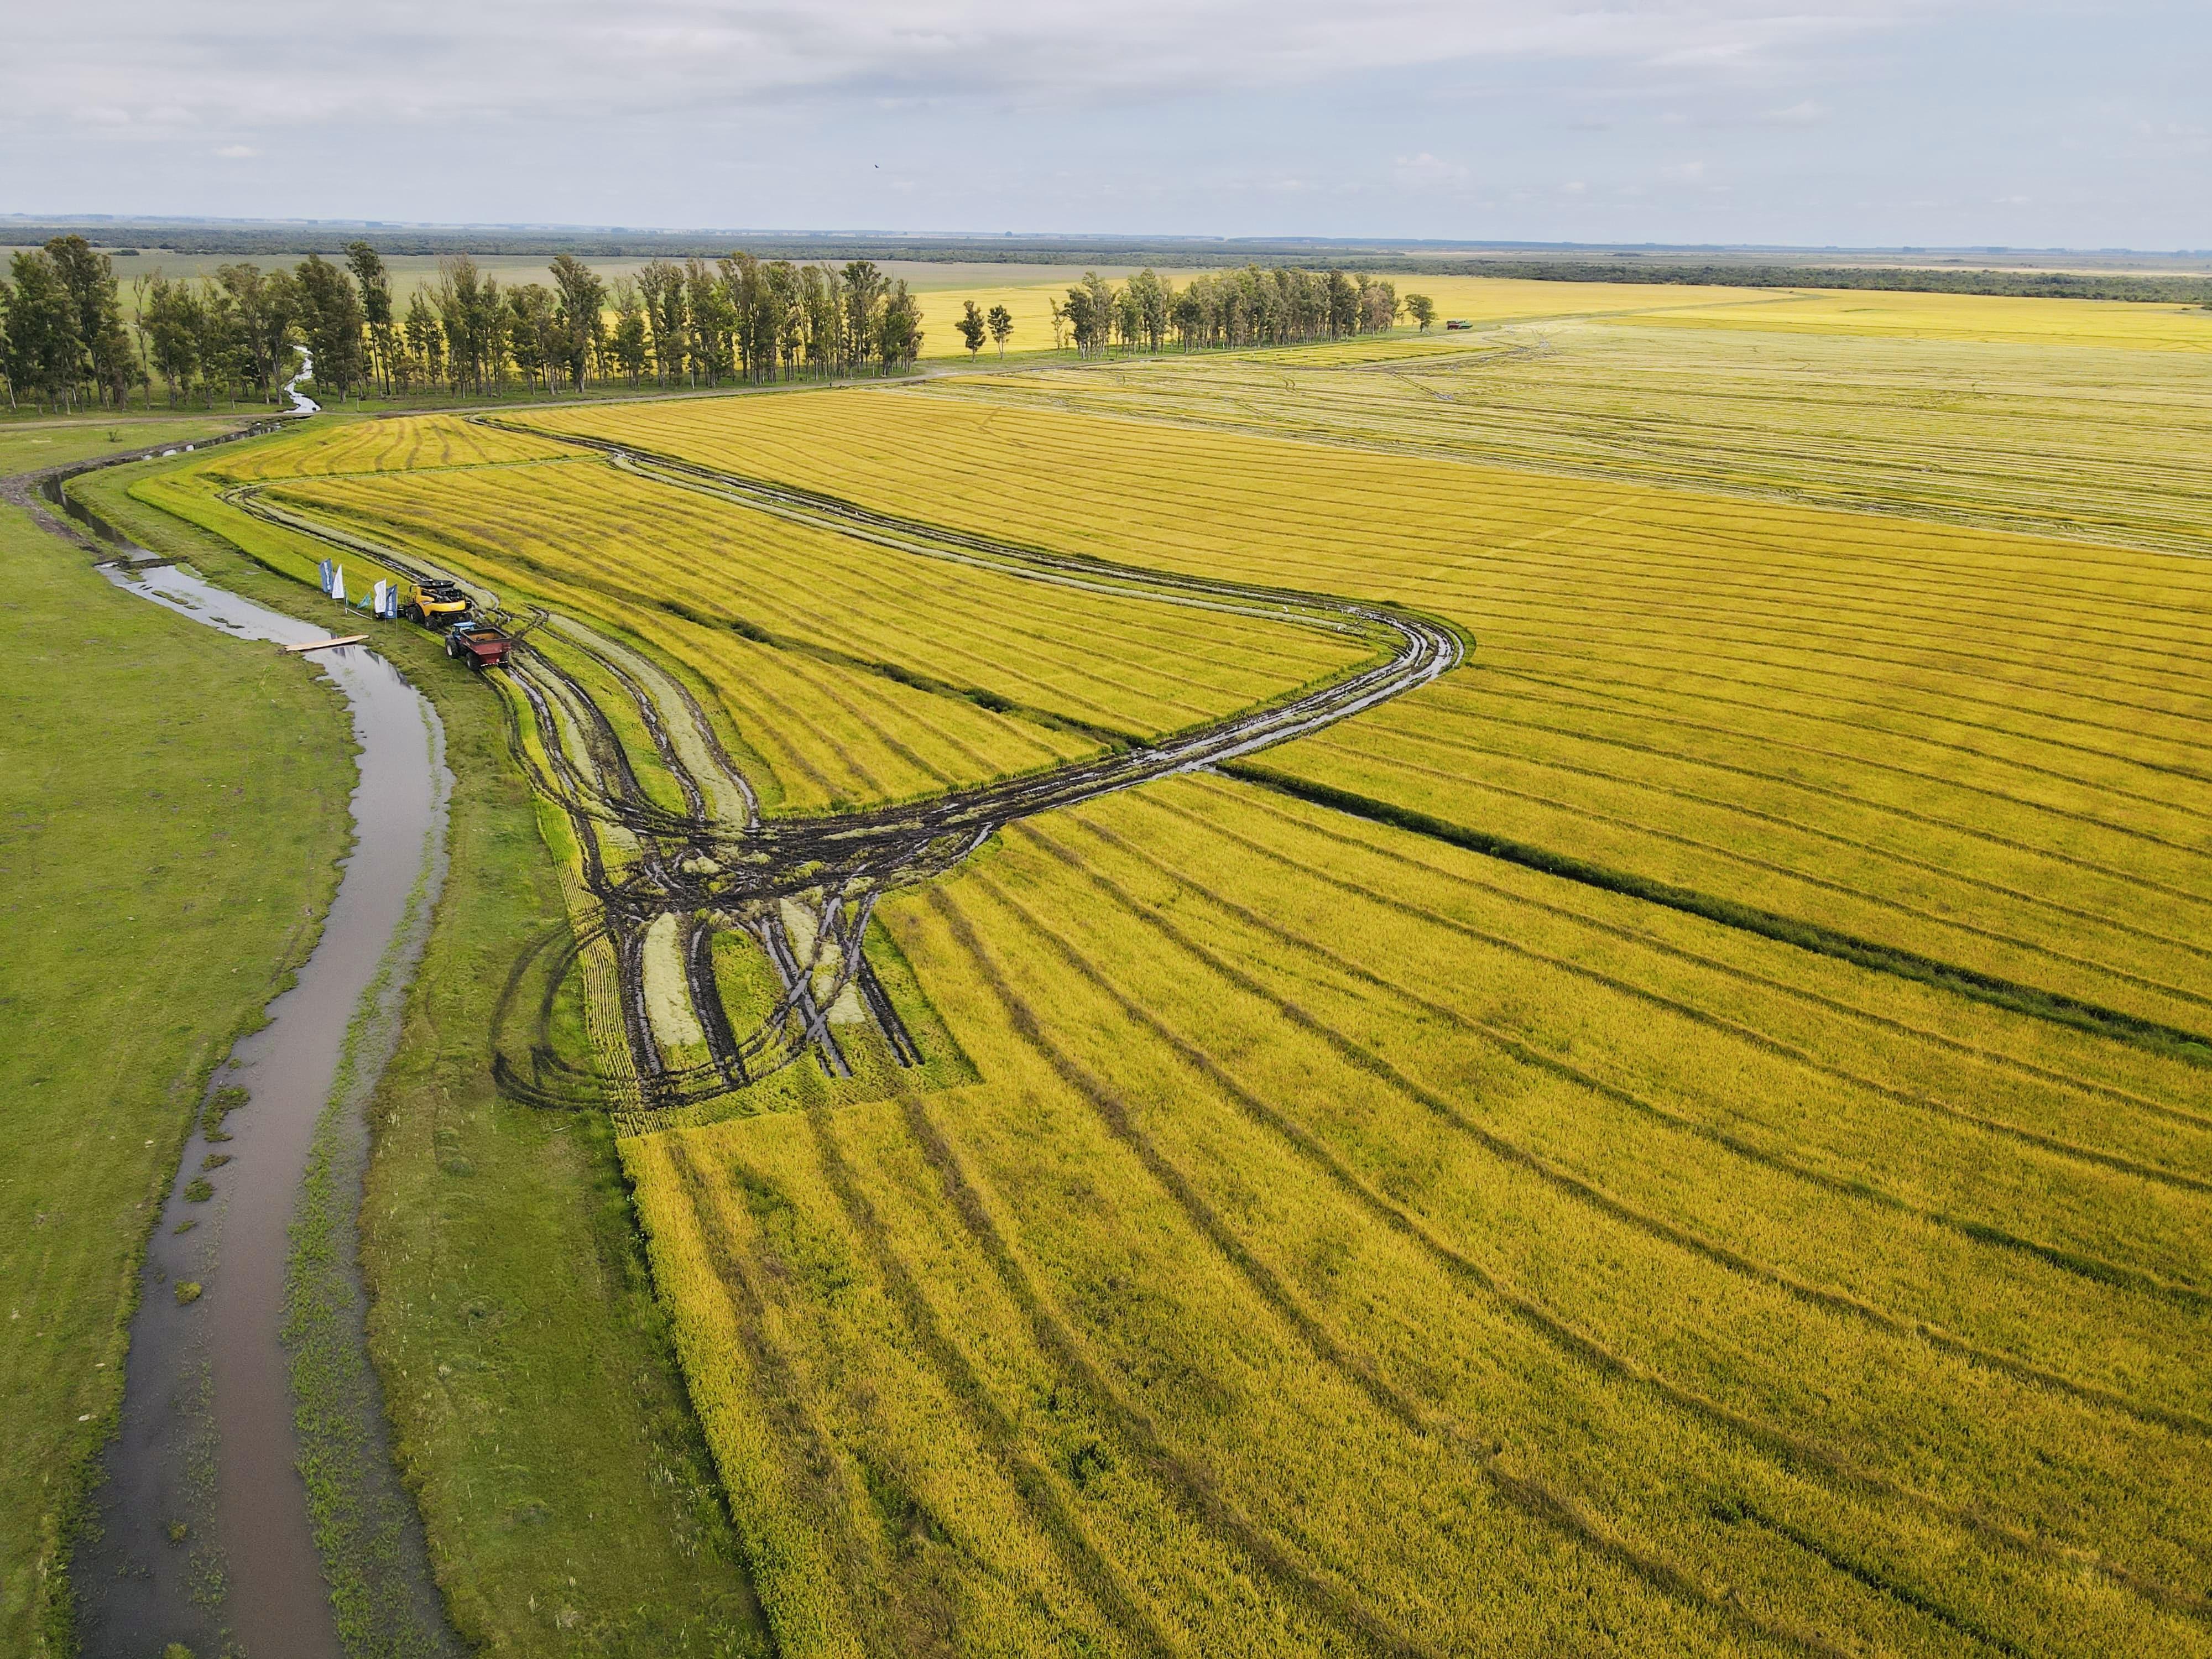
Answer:
[[787, 1650], [2212, 1646], [2192, 1068], [1228, 783], [891, 927], [984, 1084], [626, 1146]]

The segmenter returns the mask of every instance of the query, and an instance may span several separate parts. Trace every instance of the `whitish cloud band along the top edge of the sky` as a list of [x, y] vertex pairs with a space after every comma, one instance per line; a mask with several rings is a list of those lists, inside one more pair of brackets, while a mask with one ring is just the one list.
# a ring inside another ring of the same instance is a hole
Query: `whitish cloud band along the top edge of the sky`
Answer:
[[[104, 0], [11, 20], [13, 117], [133, 95], [272, 126], [741, 108], [792, 97], [1144, 102], [1440, 62], [1767, 71], [1980, 0]], [[179, 91], [184, 88], [184, 91]]]

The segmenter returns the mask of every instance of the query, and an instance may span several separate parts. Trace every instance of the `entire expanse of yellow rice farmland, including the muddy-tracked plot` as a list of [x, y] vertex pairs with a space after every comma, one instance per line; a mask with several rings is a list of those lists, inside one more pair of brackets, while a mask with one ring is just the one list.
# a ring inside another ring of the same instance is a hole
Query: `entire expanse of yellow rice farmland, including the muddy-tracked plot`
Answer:
[[2212, 327], [1639, 305], [139, 484], [538, 617], [779, 1650], [2212, 1650]]

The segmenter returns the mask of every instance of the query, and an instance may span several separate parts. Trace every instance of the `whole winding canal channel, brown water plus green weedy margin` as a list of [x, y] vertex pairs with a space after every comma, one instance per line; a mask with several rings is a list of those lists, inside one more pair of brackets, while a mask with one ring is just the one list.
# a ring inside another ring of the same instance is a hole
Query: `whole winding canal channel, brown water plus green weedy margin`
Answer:
[[[325, 633], [188, 568], [106, 568], [241, 639]], [[71, 1573], [93, 1659], [458, 1646], [392, 1471], [352, 1241], [363, 1108], [442, 878], [442, 728], [383, 657], [319, 659], [358, 745], [354, 849], [296, 982], [217, 1068], [148, 1241], [122, 1429]]]

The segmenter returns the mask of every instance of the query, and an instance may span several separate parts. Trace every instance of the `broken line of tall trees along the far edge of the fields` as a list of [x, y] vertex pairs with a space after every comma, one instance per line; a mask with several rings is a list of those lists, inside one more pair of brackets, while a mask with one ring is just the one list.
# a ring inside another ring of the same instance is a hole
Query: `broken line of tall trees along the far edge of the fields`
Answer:
[[[571, 254], [553, 283], [502, 288], [467, 257], [438, 261], [438, 281], [400, 314], [392, 274], [356, 241], [345, 263], [310, 254], [290, 270], [219, 265], [212, 276], [133, 283], [126, 312], [108, 254], [82, 237], [18, 252], [0, 281], [0, 376], [9, 405], [119, 407], [133, 387], [168, 400], [270, 400], [292, 374], [294, 347], [314, 356], [314, 383], [338, 400], [445, 387], [500, 396], [509, 385], [584, 392], [588, 385], [723, 385], [911, 367], [922, 314], [907, 283], [867, 259], [794, 265], [732, 252], [708, 263], [657, 259], [613, 283]], [[1248, 265], [1177, 288], [1152, 270], [1124, 283], [1086, 272], [1053, 301], [1053, 345], [1082, 356], [1124, 349], [1294, 345], [1391, 327], [1429, 327], [1422, 294], [1398, 296], [1378, 276]], [[1000, 356], [1013, 334], [1004, 305], [967, 303], [956, 323], [969, 352]]]

